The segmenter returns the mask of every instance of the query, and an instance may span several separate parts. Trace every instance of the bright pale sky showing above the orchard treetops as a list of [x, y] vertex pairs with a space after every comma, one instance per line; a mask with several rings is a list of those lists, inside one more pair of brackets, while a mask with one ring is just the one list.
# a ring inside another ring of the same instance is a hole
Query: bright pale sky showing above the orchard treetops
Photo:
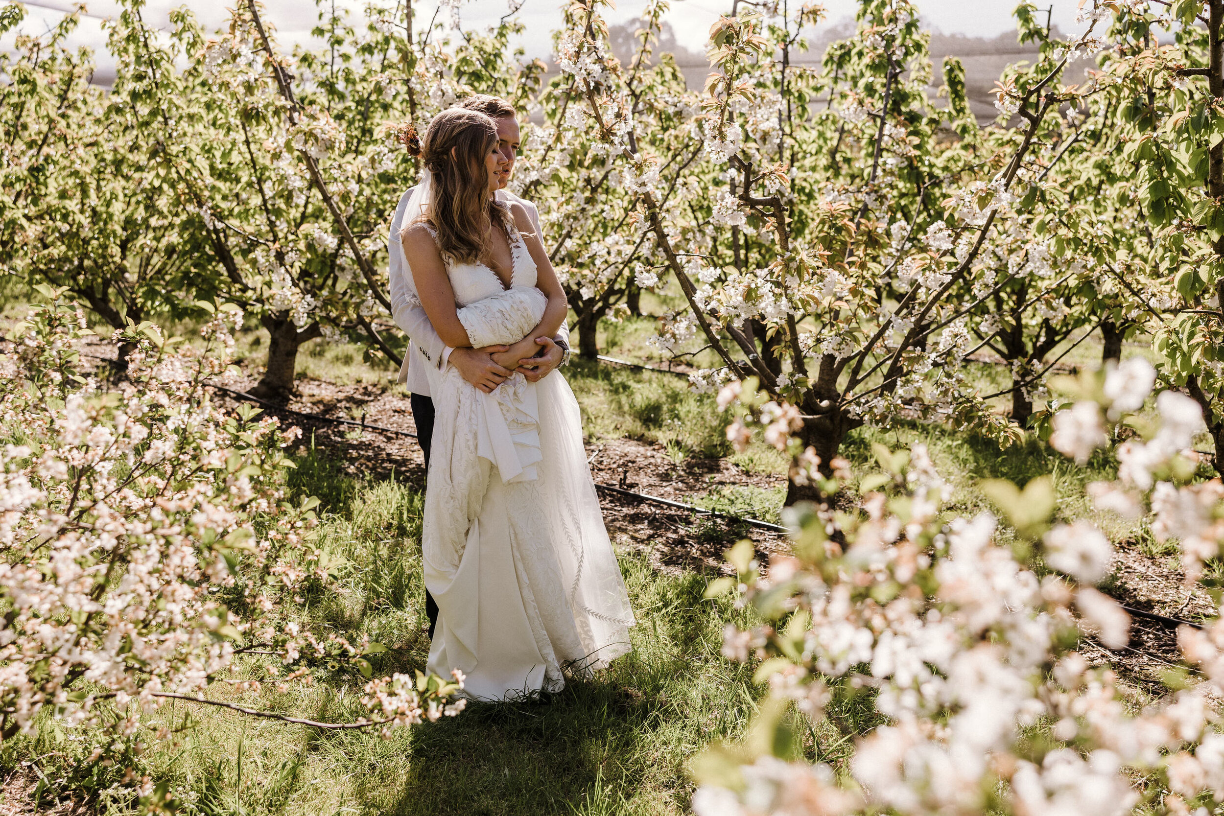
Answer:
[[[229, 2], [217, 0], [148, 0], [144, 10], [147, 22], [157, 26], [168, 26], [168, 12], [171, 7], [181, 5], [188, 6], [196, 16], [209, 28], [219, 28], [225, 23]], [[326, 0], [330, 2], [330, 0]], [[799, 5], [802, 0], [794, 0]], [[1013, 28], [1011, 10], [1017, 0], [918, 0], [924, 22], [933, 29], [939, 29], [945, 34], [966, 34], [969, 37], [994, 37]], [[1053, 22], [1064, 32], [1078, 31], [1075, 15], [1077, 0], [1036, 0], [1037, 5], [1053, 5]], [[559, 26], [561, 7], [563, 0], [524, 0], [519, 10], [519, 20], [526, 27], [526, 32], [519, 43], [529, 57], [547, 57], [551, 51], [551, 33]], [[28, 0], [27, 18], [22, 23], [27, 33], [45, 31], [45, 26], [59, 20], [62, 12], [71, 9], [67, 0]], [[282, 46], [289, 48], [294, 43], [310, 39], [310, 29], [316, 23], [316, 9], [310, 0], [263, 0], [266, 18], [275, 23], [279, 32], [278, 39]], [[348, 6], [355, 13], [364, 6], [356, 0], [335, 0], [335, 5]], [[424, 24], [428, 15], [433, 12], [437, 0], [420, 0], [417, 6], [417, 24]], [[826, 9], [826, 21], [836, 23], [848, 17], [853, 17], [858, 4], [856, 0], [824, 0]], [[115, 15], [118, 4], [114, 0], [94, 0], [87, 2], [87, 11], [91, 17], [84, 18], [75, 34], [76, 43], [89, 45], [95, 49], [99, 67], [108, 61], [104, 55], [105, 34], [102, 29], [99, 17]], [[646, 7], [646, 0], [621, 0], [616, 11], [607, 13], [610, 23], [623, 22], [641, 13]], [[730, 0], [672, 0], [671, 10], [667, 12], [667, 21], [671, 22], [676, 32], [676, 38], [681, 45], [693, 50], [704, 50], [706, 34], [710, 26], [718, 18], [720, 12], [726, 12], [731, 7]], [[507, 12], [507, 0], [466, 0], [460, 5], [460, 18], [464, 28], [480, 29], [497, 22]], [[11, 44], [11, 35], [0, 40], [0, 46]]]

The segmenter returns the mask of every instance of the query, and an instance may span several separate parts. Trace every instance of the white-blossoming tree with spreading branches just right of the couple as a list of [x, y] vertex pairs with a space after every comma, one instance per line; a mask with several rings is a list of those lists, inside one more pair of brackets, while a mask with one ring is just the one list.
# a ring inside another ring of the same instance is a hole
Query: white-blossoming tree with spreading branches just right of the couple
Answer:
[[[586, 18], [599, 7], [584, 4]], [[666, 132], [636, 116], [624, 69], [608, 69], [589, 34], [600, 23], [562, 38], [581, 116], [621, 161], [655, 241], [651, 265], [684, 295], [663, 343], [699, 333], [721, 367], [698, 383], [754, 377], [794, 405], [826, 475], [846, 433], [898, 412], [1018, 438], [966, 378], [968, 324], [1016, 272], [1000, 279], [984, 248], [1040, 217], [1031, 190], [1061, 127], [1048, 119], [1091, 93], [1059, 80], [1069, 54], [1099, 48], [1094, 27], [1007, 78], [1000, 100], [1020, 127], [950, 139], [972, 133], [967, 106], [928, 97], [925, 35], [908, 4], [864, 2], [857, 35], [830, 46], [823, 71], [789, 65], [814, 7], [763, 12], [715, 24], [714, 73], [688, 97], [688, 127]], [[683, 168], [674, 180], [672, 168]], [[787, 502], [805, 494], [792, 483]]]

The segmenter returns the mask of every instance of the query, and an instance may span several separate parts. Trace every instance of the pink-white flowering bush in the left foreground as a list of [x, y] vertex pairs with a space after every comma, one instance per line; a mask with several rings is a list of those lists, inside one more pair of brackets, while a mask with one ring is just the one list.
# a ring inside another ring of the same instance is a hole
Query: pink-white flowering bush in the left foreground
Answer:
[[[213, 308], [198, 349], [132, 327], [127, 378], [106, 390], [78, 369], [80, 308], [49, 294], [13, 330], [0, 377], [0, 739], [48, 707], [130, 735], [169, 696], [225, 681], [252, 648], [278, 656], [280, 686], [312, 659], [367, 666], [370, 644], [285, 617], [332, 577], [308, 535], [317, 500], [283, 491], [297, 428], [211, 399], [241, 311]], [[461, 678], [401, 685], [371, 686], [371, 724], [461, 711]]]

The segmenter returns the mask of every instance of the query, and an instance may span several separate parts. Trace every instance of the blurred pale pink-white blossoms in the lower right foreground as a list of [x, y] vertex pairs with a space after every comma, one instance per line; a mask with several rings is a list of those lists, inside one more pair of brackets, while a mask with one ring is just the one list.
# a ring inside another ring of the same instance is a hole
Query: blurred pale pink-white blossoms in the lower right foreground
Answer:
[[[1155, 421], [1133, 422], [1153, 380], [1142, 361], [1084, 374], [1080, 400], [1054, 417], [1053, 443], [1081, 458], [1111, 447], [1120, 477], [1089, 484], [1091, 504], [1146, 514], [1192, 564], [1224, 543], [1224, 489], [1219, 480], [1191, 481], [1189, 448], [1202, 427], [1192, 400], [1160, 391]], [[722, 401], [742, 396], [727, 390]], [[1143, 432], [1118, 443], [1104, 421]], [[694, 765], [703, 783], [694, 811], [1121, 816], [1141, 804], [1162, 814], [1218, 807], [1224, 623], [1182, 625], [1191, 679], [1136, 703], [1082, 648], [1121, 648], [1130, 629], [1127, 613], [1095, 587], [1113, 546], [1092, 521], [1059, 519], [1047, 478], [1023, 489], [984, 484], [999, 515], [955, 516], [923, 445], [881, 449], [878, 459], [883, 472], [859, 475], [857, 495], [849, 473], [824, 482], [829, 494], [848, 494], [841, 510], [788, 513], [793, 553], [765, 565], [742, 542], [728, 553], [737, 577], [710, 586], [711, 595], [738, 586], [741, 603], [761, 617], [747, 631], [728, 626], [723, 653], [759, 662], [770, 702], [755, 754], [720, 749]], [[1001, 526], [1024, 546], [1004, 543]], [[829, 728], [834, 701], [863, 694], [875, 718], [856, 740], [848, 776], [761, 750], [786, 744], [769, 736], [787, 728], [783, 707]]]

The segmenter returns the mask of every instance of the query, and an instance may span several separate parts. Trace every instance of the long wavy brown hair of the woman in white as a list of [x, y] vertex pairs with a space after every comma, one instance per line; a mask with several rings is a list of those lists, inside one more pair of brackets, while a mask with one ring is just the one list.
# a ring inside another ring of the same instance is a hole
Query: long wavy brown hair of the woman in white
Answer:
[[417, 141], [403, 138], [409, 153], [433, 174], [433, 191], [425, 213], [408, 225], [427, 221], [437, 231], [443, 257], [474, 263], [488, 250], [490, 225], [513, 235], [509, 210], [488, 195], [485, 157], [497, 146], [497, 124], [476, 110], [443, 110]]

